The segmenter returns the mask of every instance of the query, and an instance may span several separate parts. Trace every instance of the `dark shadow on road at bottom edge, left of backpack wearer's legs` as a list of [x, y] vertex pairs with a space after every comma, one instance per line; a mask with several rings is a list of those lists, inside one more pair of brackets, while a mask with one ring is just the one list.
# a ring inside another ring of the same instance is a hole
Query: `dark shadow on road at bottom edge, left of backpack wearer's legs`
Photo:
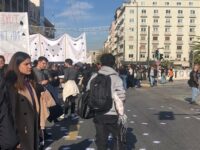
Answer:
[[63, 145], [59, 147], [59, 150], [85, 150], [92, 144], [92, 141], [85, 139], [79, 143], [74, 143], [71, 145]]

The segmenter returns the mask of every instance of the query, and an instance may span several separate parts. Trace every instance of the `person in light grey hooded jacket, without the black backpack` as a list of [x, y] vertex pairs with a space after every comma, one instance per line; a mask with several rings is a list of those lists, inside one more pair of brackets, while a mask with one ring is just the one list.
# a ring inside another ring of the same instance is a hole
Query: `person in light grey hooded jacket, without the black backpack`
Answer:
[[[113, 69], [115, 65], [115, 57], [112, 54], [103, 54], [101, 56], [102, 67], [98, 71], [100, 74], [110, 75], [111, 77], [111, 92], [113, 98], [113, 106], [109, 112], [103, 115], [94, 117], [94, 124], [96, 128], [96, 145], [98, 150], [106, 150], [108, 148], [108, 136], [112, 134], [114, 140], [115, 150], [124, 150], [125, 144], [121, 140], [121, 126], [119, 125], [119, 118], [124, 118], [124, 103], [125, 103], [125, 89], [123, 82], [118, 73]], [[91, 80], [97, 76], [94, 74], [88, 82], [87, 90], [90, 89]]]

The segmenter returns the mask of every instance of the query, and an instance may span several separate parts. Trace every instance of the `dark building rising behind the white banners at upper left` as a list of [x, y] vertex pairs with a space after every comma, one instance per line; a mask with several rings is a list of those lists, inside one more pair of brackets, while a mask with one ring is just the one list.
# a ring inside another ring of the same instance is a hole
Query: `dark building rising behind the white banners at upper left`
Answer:
[[54, 25], [44, 17], [43, 0], [0, 0], [0, 12], [28, 12], [30, 34], [55, 37]]

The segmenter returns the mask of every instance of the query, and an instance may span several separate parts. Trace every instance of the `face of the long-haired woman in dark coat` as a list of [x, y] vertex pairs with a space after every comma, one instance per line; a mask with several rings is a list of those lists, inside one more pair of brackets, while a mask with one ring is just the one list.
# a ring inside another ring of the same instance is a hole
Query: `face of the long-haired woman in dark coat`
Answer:
[[30, 58], [27, 58], [20, 63], [19, 72], [24, 75], [31, 74], [31, 59]]

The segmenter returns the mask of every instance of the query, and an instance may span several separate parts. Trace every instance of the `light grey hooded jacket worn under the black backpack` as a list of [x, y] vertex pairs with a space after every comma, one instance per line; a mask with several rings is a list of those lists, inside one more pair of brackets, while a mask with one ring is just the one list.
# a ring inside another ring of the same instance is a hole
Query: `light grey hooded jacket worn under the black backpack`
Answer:
[[[98, 71], [100, 74], [110, 75], [111, 78], [111, 94], [113, 98], [113, 106], [109, 112], [104, 115], [123, 115], [124, 114], [124, 102], [125, 102], [125, 90], [123, 87], [123, 82], [119, 77], [118, 73], [111, 67], [102, 66]], [[93, 74], [90, 78], [87, 90], [90, 89], [90, 82], [93, 78], [95, 78], [97, 74]]]

